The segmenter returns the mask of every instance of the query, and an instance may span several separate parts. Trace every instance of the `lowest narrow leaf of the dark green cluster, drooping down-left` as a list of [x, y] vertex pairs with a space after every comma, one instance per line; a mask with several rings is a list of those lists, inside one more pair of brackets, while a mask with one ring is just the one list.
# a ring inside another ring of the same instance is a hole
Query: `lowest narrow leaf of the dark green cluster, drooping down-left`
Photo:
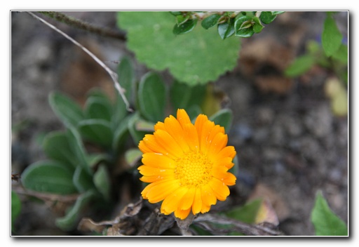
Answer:
[[56, 226], [63, 231], [71, 231], [76, 229], [76, 226], [78, 225], [81, 218], [83, 208], [85, 208], [85, 206], [87, 206], [94, 197], [95, 191], [93, 190], [88, 190], [87, 192], [81, 194], [81, 196], [76, 199], [74, 206], [69, 209], [67, 214], [62, 218], [56, 219]]

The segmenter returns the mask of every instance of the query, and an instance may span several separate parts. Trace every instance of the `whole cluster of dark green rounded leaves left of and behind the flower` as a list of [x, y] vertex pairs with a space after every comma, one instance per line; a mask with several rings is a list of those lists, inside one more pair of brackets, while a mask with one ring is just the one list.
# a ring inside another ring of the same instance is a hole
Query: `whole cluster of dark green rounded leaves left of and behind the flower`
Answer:
[[[119, 94], [111, 100], [102, 91], [90, 91], [81, 107], [67, 95], [51, 93], [50, 107], [65, 131], [48, 133], [42, 143], [47, 159], [32, 163], [21, 175], [22, 185], [30, 191], [78, 195], [65, 216], [55, 222], [65, 231], [76, 227], [85, 207], [113, 202], [114, 171], [138, 175], [135, 165], [142, 152], [137, 145], [144, 135], [154, 132], [157, 121], [169, 113], [175, 115], [179, 108], [186, 109], [194, 120], [208, 102], [206, 85], [192, 87], [174, 81], [168, 86], [156, 72], [135, 80], [129, 58], [118, 65], [118, 78], [134, 112], [127, 111]], [[221, 109], [210, 119], [229, 131], [232, 113]]]

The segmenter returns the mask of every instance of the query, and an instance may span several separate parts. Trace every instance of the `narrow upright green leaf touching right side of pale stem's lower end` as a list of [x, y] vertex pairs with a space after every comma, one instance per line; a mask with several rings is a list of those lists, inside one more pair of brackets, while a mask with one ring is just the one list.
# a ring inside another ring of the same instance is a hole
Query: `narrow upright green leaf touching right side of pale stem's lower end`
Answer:
[[[118, 74], [118, 83], [120, 84], [120, 86], [122, 88], [125, 89], [125, 96], [128, 100], [128, 102], [130, 102], [130, 104], [133, 104], [135, 102], [135, 71], [133, 69], [133, 65], [131, 63], [130, 58], [128, 58], [127, 56], [124, 56], [121, 59], [120, 64], [118, 65], [118, 69], [117, 69], [117, 74]], [[118, 95], [118, 93], [116, 93], [116, 95]], [[121, 100], [121, 102], [123, 102], [122, 98], [120, 97], [120, 95], [118, 95], [119, 100]], [[123, 105], [125, 105], [125, 103], [123, 102]], [[125, 110], [126, 110], [126, 105], [125, 105]]]

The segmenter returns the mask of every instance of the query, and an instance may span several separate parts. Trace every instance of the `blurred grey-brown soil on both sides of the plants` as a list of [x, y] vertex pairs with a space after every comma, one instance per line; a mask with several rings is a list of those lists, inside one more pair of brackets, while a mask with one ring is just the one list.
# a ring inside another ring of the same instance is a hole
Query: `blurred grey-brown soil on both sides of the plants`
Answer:
[[[69, 14], [116, 28], [113, 12]], [[291, 236], [314, 234], [310, 219], [318, 191], [348, 223], [348, 117], [335, 116], [325, 95], [325, 80], [331, 73], [316, 67], [297, 79], [283, 76], [285, 67], [304, 52], [306, 42], [320, 38], [324, 18], [324, 12], [278, 16], [261, 34], [242, 41], [238, 66], [215, 82], [229, 98], [226, 107], [233, 111], [229, 144], [238, 153], [235, 190], [241, 196], [269, 198], [279, 229]], [[337, 17], [344, 35], [346, 18], [347, 13]], [[133, 57], [123, 41], [52, 23], [86, 44], [114, 70], [113, 61], [125, 54]], [[133, 62], [137, 74], [147, 71]], [[107, 74], [83, 51], [27, 13], [12, 12], [11, 171], [21, 173], [43, 159], [41, 136], [64, 128], [48, 105], [51, 91], [61, 90], [83, 103], [88, 89], [100, 86], [110, 92], [109, 85]], [[26, 196], [21, 199], [18, 221], [22, 223], [17, 223], [16, 235], [72, 234], [55, 227], [56, 215], [48, 206]]]

